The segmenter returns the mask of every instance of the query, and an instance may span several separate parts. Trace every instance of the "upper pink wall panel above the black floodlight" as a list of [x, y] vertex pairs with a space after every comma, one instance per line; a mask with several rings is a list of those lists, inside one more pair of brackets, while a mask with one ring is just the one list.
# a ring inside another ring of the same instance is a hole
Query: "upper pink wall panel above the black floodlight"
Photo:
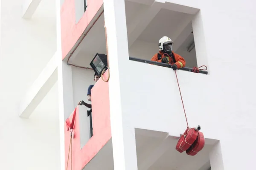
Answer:
[[85, 28], [103, 5], [103, 0], [87, 0], [87, 10], [76, 24], [75, 0], [65, 0], [61, 7], [61, 46], [64, 59]]

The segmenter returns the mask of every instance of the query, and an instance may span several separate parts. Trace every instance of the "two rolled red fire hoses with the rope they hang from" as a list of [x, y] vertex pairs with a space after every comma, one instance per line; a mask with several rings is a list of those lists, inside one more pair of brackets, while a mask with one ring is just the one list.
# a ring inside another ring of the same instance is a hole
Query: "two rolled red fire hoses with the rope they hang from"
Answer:
[[[178, 83], [178, 87], [179, 87], [179, 91], [180, 91], [180, 85], [179, 85], [176, 70], [175, 70], [175, 75], [176, 75], [176, 79], [177, 79], [177, 83]], [[183, 151], [186, 150], [186, 154], [188, 154], [190, 156], [194, 156], [200, 150], [202, 150], [204, 148], [204, 134], [202, 132], [199, 132], [199, 130], [201, 129], [200, 126], [195, 127], [195, 128], [189, 128], [181, 91], [180, 91], [180, 98], [181, 98], [183, 110], [185, 113], [187, 129], [185, 130], [183, 135], [180, 136], [180, 139], [178, 140], [177, 145], [176, 145], [176, 150], [180, 153], [182, 153]]]

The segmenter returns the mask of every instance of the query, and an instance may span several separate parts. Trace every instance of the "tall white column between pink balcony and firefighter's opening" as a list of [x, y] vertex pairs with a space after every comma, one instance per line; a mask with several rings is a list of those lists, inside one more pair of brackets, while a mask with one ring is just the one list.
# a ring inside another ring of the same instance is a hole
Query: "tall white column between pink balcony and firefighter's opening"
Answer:
[[115, 170], [137, 170], [135, 130], [129, 119], [125, 0], [104, 0], [110, 66], [109, 99]]

